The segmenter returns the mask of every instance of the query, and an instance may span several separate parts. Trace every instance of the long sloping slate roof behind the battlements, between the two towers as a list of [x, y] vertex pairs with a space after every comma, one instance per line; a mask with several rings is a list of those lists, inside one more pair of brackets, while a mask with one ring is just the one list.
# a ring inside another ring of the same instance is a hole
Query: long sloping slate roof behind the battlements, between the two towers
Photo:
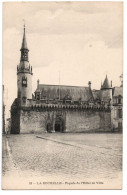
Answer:
[[56, 99], [59, 94], [60, 99], [64, 99], [67, 96], [73, 100], [82, 99], [82, 101], [88, 101], [93, 99], [92, 91], [89, 87], [39, 84], [35, 92], [37, 91], [41, 91], [42, 96], [47, 99]]

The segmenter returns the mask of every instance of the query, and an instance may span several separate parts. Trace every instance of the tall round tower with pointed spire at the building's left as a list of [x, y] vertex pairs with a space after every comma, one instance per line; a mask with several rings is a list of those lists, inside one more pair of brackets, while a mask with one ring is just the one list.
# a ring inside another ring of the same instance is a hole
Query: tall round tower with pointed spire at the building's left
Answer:
[[17, 98], [21, 100], [21, 105], [25, 105], [27, 99], [32, 99], [32, 66], [29, 63], [29, 49], [26, 42], [25, 25], [23, 40], [21, 45], [21, 58], [17, 66]]

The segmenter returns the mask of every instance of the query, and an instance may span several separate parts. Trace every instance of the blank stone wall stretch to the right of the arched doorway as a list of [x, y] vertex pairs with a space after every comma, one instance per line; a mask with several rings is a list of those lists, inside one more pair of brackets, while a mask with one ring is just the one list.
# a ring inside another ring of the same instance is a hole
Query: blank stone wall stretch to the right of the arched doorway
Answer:
[[66, 113], [67, 132], [111, 131], [111, 113], [93, 111], [68, 111]]

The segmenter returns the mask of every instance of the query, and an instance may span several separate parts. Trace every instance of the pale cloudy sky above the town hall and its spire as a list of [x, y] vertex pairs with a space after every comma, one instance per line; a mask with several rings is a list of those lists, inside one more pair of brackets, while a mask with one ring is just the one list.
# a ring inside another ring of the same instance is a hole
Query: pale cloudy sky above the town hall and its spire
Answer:
[[23, 19], [33, 92], [42, 84], [99, 89], [106, 74], [113, 86], [122, 73], [121, 2], [16, 2], [3, 5], [3, 84], [9, 106], [17, 96]]

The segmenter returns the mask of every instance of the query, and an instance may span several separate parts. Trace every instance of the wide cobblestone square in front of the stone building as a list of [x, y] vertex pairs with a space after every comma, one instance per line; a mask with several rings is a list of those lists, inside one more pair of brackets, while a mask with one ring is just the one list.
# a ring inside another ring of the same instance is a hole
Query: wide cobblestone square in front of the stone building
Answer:
[[116, 179], [122, 134], [21, 134], [3, 137], [3, 176]]

